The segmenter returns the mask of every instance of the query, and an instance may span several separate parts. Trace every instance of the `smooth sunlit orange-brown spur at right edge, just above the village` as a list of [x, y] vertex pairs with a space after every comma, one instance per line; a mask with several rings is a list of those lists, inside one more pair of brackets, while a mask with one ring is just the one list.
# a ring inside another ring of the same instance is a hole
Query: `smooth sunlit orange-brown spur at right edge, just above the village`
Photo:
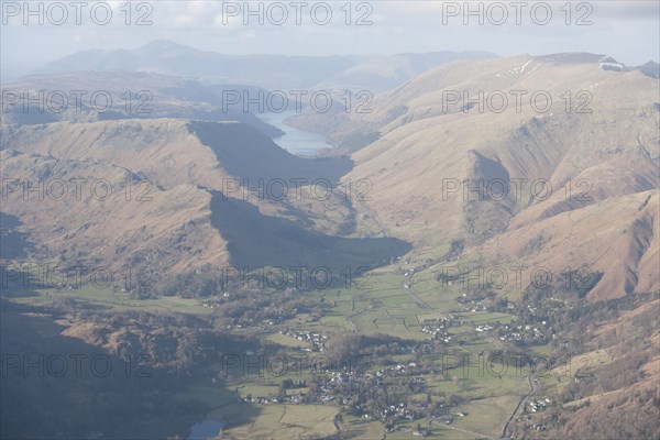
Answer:
[[474, 252], [492, 264], [526, 267], [528, 275], [535, 268], [560, 279], [566, 271], [602, 273], [590, 299], [657, 292], [659, 210], [657, 190], [613, 197], [503, 232]]

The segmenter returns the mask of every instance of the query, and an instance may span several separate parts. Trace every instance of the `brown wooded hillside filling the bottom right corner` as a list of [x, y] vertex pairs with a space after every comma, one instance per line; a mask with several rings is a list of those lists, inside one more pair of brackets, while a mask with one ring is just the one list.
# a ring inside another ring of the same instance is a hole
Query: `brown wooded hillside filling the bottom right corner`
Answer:
[[586, 372], [573, 371], [574, 380], [559, 393], [559, 405], [516, 424], [513, 433], [538, 439], [657, 438], [659, 306], [656, 297], [617, 304], [607, 312], [602, 308], [601, 319], [583, 330], [586, 352], [574, 358]]

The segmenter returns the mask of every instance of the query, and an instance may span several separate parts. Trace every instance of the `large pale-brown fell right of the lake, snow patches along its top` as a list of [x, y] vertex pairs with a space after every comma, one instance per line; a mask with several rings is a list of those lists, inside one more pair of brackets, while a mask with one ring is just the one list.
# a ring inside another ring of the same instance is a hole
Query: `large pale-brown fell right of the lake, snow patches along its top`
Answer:
[[[363, 213], [417, 246], [490, 240], [502, 250], [487, 254], [494, 261], [607, 268], [607, 279], [616, 282], [604, 279], [594, 298], [657, 289], [657, 268], [646, 262], [657, 258], [658, 81], [637, 70], [604, 69], [601, 58], [452, 63], [381, 96], [376, 111], [353, 122], [380, 133], [352, 155], [356, 166], [348, 175], [373, 182]], [[453, 90], [461, 99], [450, 105]], [[498, 112], [492, 110], [496, 100], [464, 107], [463, 90], [472, 98], [502, 91], [512, 100]], [[516, 108], [515, 90], [527, 97], [542, 91], [552, 107], [541, 112], [542, 101], [535, 109], [522, 100]], [[566, 90], [573, 97], [568, 111]], [[576, 99], [580, 92], [586, 95]], [[601, 227], [594, 219], [603, 213], [608, 217]], [[630, 232], [614, 240], [615, 224]], [[544, 229], [553, 239], [524, 252]], [[606, 256], [587, 256], [597, 252], [586, 251], [593, 237], [608, 244]], [[553, 243], [564, 244], [556, 253]], [[622, 255], [629, 258], [623, 265]]]

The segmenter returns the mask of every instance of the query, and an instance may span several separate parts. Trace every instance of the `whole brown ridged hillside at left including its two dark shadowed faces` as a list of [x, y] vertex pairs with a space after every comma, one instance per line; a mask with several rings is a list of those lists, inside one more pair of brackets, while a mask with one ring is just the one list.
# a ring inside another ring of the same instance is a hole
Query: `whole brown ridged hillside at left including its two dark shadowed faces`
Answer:
[[[334, 237], [351, 222], [351, 200], [338, 191], [314, 197], [309, 184], [336, 184], [349, 161], [294, 156], [239, 122], [56, 122], [4, 125], [0, 136], [11, 180], [3, 213], [38, 244], [29, 253], [34, 258], [146, 265], [164, 283], [191, 273], [218, 277], [233, 264], [348, 262], [358, 270], [407, 249], [398, 240]], [[75, 179], [85, 179], [79, 194]], [[273, 182], [292, 186], [277, 193]], [[302, 182], [300, 193], [292, 182]], [[336, 212], [332, 224], [327, 209]]]

